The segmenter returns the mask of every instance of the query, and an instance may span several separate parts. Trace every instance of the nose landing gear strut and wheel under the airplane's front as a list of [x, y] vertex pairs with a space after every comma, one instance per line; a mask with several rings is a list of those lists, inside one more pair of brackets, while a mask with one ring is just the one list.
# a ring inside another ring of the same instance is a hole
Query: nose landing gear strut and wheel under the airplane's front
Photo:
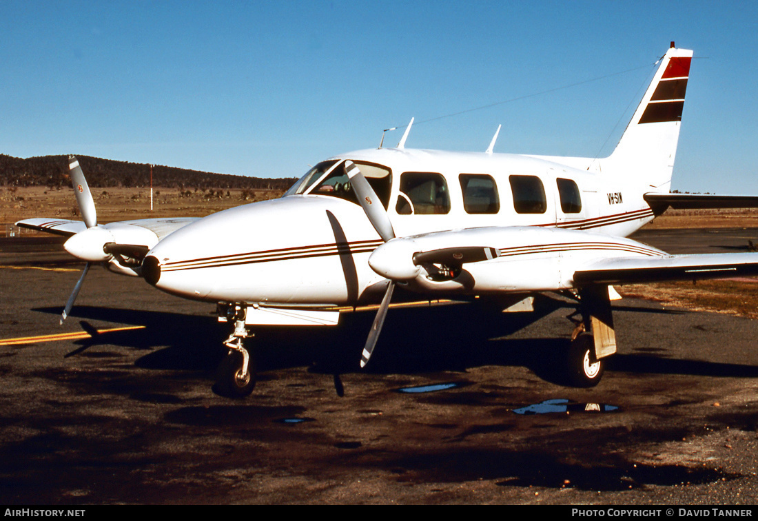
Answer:
[[216, 391], [230, 398], [244, 398], [255, 388], [255, 359], [243, 347], [252, 334], [245, 326], [246, 307], [243, 304], [224, 304], [218, 307], [219, 317], [234, 323], [234, 331], [224, 345], [229, 353], [221, 361], [216, 374]]

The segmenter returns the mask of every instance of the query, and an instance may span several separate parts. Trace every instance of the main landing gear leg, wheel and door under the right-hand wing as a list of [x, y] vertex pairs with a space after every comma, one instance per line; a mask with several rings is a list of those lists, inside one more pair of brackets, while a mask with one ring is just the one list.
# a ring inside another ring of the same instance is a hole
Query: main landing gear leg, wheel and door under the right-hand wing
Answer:
[[607, 287], [584, 288], [578, 297], [582, 318], [565, 353], [566, 378], [572, 387], [590, 388], [600, 383], [606, 357], [616, 352], [615, 331]]

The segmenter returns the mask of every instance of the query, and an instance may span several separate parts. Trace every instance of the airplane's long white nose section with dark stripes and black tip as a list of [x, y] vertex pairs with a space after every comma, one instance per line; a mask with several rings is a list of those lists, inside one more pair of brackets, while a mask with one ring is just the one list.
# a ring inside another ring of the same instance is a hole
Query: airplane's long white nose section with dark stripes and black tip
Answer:
[[346, 277], [357, 284], [358, 276], [346, 253], [368, 253], [379, 240], [355, 203], [288, 196], [174, 231], [146, 254], [142, 275], [159, 290], [193, 300], [342, 302]]

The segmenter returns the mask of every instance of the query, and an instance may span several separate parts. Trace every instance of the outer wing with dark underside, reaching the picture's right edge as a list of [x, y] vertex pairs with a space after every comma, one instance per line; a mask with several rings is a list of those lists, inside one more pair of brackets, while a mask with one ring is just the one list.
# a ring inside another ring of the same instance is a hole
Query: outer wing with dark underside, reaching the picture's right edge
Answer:
[[709, 253], [660, 257], [621, 257], [596, 262], [574, 273], [577, 286], [693, 281], [758, 275], [758, 253]]

